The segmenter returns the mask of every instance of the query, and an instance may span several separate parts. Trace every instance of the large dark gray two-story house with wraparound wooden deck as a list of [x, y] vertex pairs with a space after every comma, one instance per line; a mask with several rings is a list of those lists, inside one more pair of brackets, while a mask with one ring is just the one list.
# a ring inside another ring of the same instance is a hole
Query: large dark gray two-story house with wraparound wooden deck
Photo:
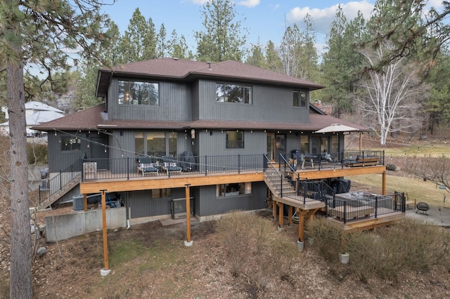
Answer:
[[231, 60], [160, 58], [99, 69], [103, 105], [34, 126], [49, 135], [50, 178], [65, 173], [72, 176], [55, 184], [76, 182], [60, 192], [51, 180], [60, 194], [44, 205], [81, 193], [86, 211], [88, 194], [119, 192], [131, 225], [173, 216], [184, 199], [199, 220], [267, 207], [276, 217], [284, 205], [289, 215], [386, 222], [376, 204], [354, 206], [347, 218], [347, 199], [323, 192], [339, 178], [380, 173], [384, 193], [386, 170], [383, 152], [345, 149], [350, 131], [316, 133], [333, 124], [368, 131], [311, 104], [311, 91], [324, 87]]

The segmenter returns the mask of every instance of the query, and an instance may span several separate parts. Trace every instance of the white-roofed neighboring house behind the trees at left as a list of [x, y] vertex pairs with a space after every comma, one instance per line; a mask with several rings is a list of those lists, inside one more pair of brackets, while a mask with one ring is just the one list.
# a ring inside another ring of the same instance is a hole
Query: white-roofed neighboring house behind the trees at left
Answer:
[[[5, 118], [9, 119], [7, 107], [2, 107]], [[30, 101], [25, 103], [25, 123], [27, 124], [27, 135], [34, 137], [39, 131], [32, 129], [33, 126], [59, 119], [64, 116], [64, 112], [55, 107], [44, 104], [43, 102]], [[0, 124], [0, 132], [7, 135], [9, 133], [9, 121]]]

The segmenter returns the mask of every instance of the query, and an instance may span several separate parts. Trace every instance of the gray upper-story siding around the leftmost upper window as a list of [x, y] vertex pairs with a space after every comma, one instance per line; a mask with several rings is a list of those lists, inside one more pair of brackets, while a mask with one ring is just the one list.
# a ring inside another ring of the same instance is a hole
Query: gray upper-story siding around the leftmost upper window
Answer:
[[160, 105], [118, 105], [117, 82], [113, 79], [108, 91], [109, 119], [143, 119], [152, 121], [191, 120], [191, 86], [173, 82], [159, 82]]

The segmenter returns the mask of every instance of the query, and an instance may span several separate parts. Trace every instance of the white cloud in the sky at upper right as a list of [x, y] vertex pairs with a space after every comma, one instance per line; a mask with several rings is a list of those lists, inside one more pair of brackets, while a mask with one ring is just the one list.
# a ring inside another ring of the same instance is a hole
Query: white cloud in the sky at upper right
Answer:
[[[336, 11], [338, 11], [339, 4], [327, 8], [309, 8], [309, 7], [295, 7], [287, 15], [286, 18], [288, 23], [297, 23], [300, 27], [303, 24], [303, 19], [307, 15], [311, 15], [312, 20], [314, 20], [314, 27], [317, 32], [326, 34], [330, 25], [333, 22]], [[373, 10], [373, 4], [369, 3], [367, 0], [364, 1], [352, 1], [347, 4], [340, 4], [342, 11], [344, 12], [347, 21], [353, 20], [358, 11], [363, 13], [364, 18], [368, 19]]]

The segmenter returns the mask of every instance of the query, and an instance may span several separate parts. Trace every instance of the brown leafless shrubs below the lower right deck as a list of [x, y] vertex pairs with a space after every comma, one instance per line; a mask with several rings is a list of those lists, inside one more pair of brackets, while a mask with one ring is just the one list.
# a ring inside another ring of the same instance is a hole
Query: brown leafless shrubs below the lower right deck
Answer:
[[342, 275], [339, 251], [350, 253], [347, 272], [361, 281], [373, 277], [397, 281], [401, 272], [426, 271], [435, 265], [450, 267], [450, 234], [436, 225], [406, 219], [367, 232], [342, 232], [321, 218], [307, 222], [314, 247], [330, 263], [330, 272]]

